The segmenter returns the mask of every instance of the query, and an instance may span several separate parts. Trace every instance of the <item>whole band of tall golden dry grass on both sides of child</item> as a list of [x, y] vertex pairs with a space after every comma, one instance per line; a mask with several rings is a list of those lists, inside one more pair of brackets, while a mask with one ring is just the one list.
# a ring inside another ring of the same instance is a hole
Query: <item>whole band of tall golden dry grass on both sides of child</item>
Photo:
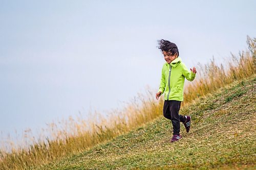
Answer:
[[[256, 39], [247, 37], [247, 44], [248, 50], [242, 51], [238, 56], [231, 55], [226, 67], [222, 64], [218, 66], [214, 60], [206, 65], [199, 64], [195, 82], [186, 86], [183, 105], [234, 80], [254, 75]], [[70, 117], [57, 124], [51, 123], [49, 135], [44, 139], [33, 139], [33, 144], [29, 147], [13, 147], [11, 152], [2, 149], [0, 169], [25, 169], [48, 163], [131, 131], [162, 115], [163, 98], [160, 101], [154, 98], [155, 90], [148, 88], [146, 94], [138, 93], [122, 110], [112, 110], [108, 117], [94, 112], [90, 119]]]

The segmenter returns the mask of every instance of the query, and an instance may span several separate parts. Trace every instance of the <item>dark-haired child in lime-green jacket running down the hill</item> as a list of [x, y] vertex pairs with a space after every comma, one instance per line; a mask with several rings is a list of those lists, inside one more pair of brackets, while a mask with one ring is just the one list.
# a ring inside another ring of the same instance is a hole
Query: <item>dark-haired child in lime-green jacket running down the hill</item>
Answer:
[[156, 99], [164, 93], [163, 116], [172, 120], [173, 137], [170, 142], [178, 141], [182, 138], [180, 135], [180, 122], [182, 122], [189, 132], [191, 126], [191, 116], [179, 114], [180, 104], [183, 101], [183, 87], [185, 78], [193, 81], [197, 70], [195, 67], [186, 68], [179, 57], [178, 47], [175, 43], [168, 40], [159, 40], [158, 48], [162, 51], [164, 63], [162, 68], [162, 77], [160, 87], [156, 93]]

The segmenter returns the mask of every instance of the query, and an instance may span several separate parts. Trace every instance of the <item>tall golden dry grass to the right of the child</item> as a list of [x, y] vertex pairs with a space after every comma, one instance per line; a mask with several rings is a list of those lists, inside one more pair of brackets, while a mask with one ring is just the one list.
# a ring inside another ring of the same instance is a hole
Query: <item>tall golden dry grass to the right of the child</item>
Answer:
[[[214, 58], [205, 65], [199, 65], [197, 79], [189, 83], [184, 91], [184, 103], [189, 103], [199, 96], [211, 93], [235, 80], [241, 80], [256, 72], [256, 39], [247, 36], [248, 50], [240, 52], [237, 56], [231, 54], [227, 62], [218, 65]], [[226, 64], [226, 66], [224, 66]], [[184, 104], [183, 103], [183, 104]]]

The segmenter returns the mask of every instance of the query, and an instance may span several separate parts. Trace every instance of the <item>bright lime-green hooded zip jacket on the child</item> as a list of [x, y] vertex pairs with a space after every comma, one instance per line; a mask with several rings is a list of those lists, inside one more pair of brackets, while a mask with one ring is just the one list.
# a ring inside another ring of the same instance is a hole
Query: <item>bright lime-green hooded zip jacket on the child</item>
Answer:
[[185, 64], [177, 57], [170, 64], [164, 63], [159, 91], [164, 93], [164, 100], [183, 101], [183, 87], [185, 78], [193, 81], [196, 74], [189, 71]]

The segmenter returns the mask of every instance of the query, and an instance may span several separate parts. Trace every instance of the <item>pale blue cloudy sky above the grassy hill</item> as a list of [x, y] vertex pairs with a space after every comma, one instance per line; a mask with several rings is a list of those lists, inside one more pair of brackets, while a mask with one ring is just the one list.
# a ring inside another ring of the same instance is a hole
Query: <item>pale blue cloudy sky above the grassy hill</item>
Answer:
[[256, 1], [0, 0], [0, 131], [120, 107], [157, 89], [157, 40], [192, 67], [244, 50]]

